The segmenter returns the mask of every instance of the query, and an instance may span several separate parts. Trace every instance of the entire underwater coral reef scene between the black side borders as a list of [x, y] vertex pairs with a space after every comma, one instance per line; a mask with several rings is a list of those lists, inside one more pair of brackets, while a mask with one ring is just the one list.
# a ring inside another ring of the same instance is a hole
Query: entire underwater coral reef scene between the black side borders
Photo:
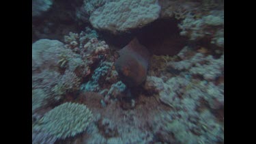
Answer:
[[224, 143], [223, 0], [32, 0], [33, 144]]

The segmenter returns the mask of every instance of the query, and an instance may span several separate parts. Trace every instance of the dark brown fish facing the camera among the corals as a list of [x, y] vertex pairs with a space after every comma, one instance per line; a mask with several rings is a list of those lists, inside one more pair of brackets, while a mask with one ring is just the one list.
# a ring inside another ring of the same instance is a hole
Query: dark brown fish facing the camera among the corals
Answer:
[[150, 53], [145, 46], [134, 38], [128, 45], [124, 46], [115, 61], [115, 70], [121, 81], [127, 87], [137, 87], [147, 78]]

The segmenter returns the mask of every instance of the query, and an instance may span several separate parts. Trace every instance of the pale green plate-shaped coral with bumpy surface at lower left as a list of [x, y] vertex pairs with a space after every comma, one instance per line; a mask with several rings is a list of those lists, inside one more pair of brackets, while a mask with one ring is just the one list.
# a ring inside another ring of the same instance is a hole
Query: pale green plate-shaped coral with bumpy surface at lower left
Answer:
[[48, 111], [35, 128], [56, 139], [66, 139], [85, 131], [91, 121], [92, 114], [87, 106], [66, 102]]

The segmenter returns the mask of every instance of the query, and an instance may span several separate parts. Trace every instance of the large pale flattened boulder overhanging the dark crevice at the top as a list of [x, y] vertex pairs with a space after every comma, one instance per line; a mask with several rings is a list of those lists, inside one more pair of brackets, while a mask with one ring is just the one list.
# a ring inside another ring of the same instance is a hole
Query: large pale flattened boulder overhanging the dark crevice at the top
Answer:
[[153, 22], [160, 14], [157, 0], [120, 0], [95, 10], [89, 21], [96, 29], [126, 32]]

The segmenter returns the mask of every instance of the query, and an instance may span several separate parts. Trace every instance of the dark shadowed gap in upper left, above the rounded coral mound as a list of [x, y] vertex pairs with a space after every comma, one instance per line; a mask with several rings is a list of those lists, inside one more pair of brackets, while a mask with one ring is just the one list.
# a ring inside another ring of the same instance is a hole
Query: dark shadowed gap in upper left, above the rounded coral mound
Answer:
[[66, 0], [66, 3], [56, 0], [50, 10], [43, 12], [40, 16], [33, 16], [32, 43], [43, 38], [63, 42], [64, 35], [68, 35], [70, 31], [74, 33], [83, 31], [87, 23], [81, 26], [75, 19], [76, 7], [82, 3], [82, 0]]

